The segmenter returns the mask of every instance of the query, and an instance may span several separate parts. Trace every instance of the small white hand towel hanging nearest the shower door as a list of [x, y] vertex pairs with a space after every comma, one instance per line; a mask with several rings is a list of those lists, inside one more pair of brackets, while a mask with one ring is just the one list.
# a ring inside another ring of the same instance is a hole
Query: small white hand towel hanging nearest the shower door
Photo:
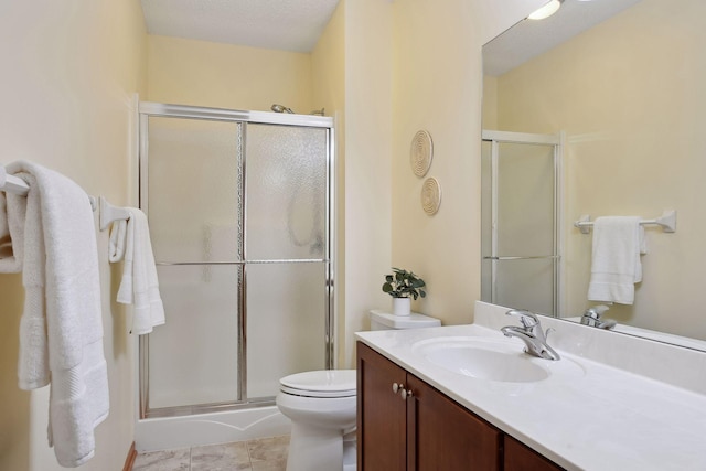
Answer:
[[117, 300], [133, 306], [130, 332], [141, 335], [164, 323], [164, 307], [159, 293], [147, 216], [136, 207], [128, 211], [125, 265]]

